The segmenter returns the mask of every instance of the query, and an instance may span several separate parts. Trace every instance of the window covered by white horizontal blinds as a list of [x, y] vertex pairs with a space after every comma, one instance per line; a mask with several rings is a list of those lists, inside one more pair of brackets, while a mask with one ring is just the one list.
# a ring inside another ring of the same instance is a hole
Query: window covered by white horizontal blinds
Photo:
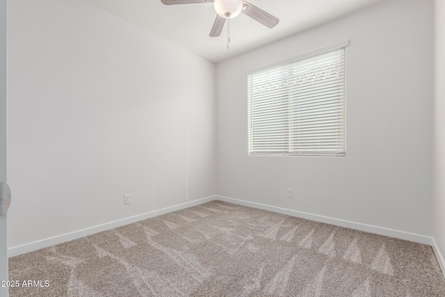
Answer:
[[346, 155], [347, 45], [248, 73], [250, 155]]

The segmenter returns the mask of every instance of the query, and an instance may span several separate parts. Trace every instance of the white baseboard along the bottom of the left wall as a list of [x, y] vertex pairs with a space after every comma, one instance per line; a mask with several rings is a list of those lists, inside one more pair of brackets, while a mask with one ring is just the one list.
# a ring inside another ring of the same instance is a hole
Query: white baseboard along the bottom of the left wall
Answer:
[[106, 230], [110, 230], [116, 227], [121, 227], [123, 225], [128, 225], [131, 223], [138, 222], [140, 220], [145, 220], [147, 218], [153, 218], [154, 216], [161, 216], [161, 214], [167, 214], [172, 211], [177, 211], [180, 209], [185, 209], [187, 207], [193, 207], [205, 202], [209, 202], [211, 200], [215, 200], [216, 196], [211, 196], [207, 198], [202, 198], [198, 200], [193, 200], [190, 202], [185, 202], [182, 204], [177, 204], [172, 207], [165, 207], [163, 209], [157, 209], [154, 211], [149, 211], [145, 214], [139, 214], [137, 216], [131, 216], [129, 218], [123, 218], [121, 220], [115, 220], [110, 223], [105, 223], [102, 225], [97, 225], [94, 227], [89, 227], [83, 230], [78, 230], [74, 232], [70, 232], [67, 234], [62, 234], [58, 236], [53, 236], [48, 239], [42, 239], [40, 241], [34, 241], [31, 243], [26, 243], [22, 246], [13, 246], [12, 248], [8, 248], [8, 257], [15, 257], [18, 255], [25, 254], [26, 252], [33, 252], [34, 250], [40, 250], [41, 248], [47, 248], [49, 246], [54, 246], [59, 243], [64, 243], [67, 241], [72, 241], [74, 239], [79, 239], [83, 236], [88, 236], [91, 234], [95, 234], [97, 232], [102, 232]]

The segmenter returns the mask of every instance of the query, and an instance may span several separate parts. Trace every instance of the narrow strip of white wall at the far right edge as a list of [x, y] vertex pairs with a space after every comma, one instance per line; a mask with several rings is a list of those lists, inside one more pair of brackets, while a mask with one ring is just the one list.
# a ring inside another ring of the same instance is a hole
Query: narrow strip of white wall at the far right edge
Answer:
[[[434, 238], [445, 265], [445, 2], [435, 1]], [[442, 266], [442, 268], [444, 268]], [[445, 272], [445, 271], [444, 271]]]

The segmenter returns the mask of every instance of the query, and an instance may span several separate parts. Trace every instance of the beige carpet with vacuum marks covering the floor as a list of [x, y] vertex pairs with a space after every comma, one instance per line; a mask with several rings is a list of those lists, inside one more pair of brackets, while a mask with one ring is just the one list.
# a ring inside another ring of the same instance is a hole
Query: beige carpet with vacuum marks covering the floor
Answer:
[[10, 296], [445, 296], [430, 246], [221, 201], [13, 257], [10, 280], [49, 281]]

